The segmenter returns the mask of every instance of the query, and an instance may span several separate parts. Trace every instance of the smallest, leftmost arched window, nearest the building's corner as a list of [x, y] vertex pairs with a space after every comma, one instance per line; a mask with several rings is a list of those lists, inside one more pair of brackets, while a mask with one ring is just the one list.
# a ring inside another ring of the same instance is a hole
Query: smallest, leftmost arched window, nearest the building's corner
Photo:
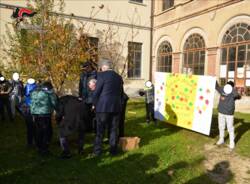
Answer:
[[169, 42], [164, 41], [158, 49], [158, 72], [171, 72], [172, 71], [172, 47]]

